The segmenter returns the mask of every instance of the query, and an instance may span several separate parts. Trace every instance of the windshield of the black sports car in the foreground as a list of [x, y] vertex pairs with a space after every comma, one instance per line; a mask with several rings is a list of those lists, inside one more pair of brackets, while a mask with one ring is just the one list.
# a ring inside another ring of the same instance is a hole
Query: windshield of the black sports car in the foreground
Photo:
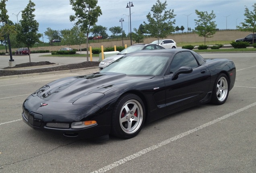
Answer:
[[170, 53], [128, 54], [103, 68], [103, 72], [125, 73], [127, 75], [160, 75], [171, 57]]

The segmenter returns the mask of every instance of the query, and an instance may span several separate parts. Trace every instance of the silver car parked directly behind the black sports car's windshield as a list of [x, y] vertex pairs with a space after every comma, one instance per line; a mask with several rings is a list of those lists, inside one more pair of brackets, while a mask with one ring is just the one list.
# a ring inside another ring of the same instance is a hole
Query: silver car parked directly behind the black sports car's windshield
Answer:
[[105, 58], [104, 60], [102, 60], [99, 63], [99, 69], [102, 70], [103, 68], [105, 68], [106, 66], [108, 66], [109, 64], [114, 62], [115, 60], [118, 60], [119, 58], [121, 58], [125, 54], [135, 52], [135, 51], [138, 51], [138, 50], [155, 50], [155, 49], [164, 49], [164, 48], [162, 46], [159, 46], [159, 45], [156, 45], [156, 44], [133, 44], [132, 46], [129, 46], [128, 48], [125, 48], [124, 50], [122, 50], [118, 54], [113, 55], [113, 56], [109, 56], [109, 57]]

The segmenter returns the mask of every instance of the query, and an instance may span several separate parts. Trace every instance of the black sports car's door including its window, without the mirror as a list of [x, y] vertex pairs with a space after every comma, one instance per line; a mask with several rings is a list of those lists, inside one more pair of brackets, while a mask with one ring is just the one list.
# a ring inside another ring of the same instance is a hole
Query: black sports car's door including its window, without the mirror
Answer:
[[[180, 74], [173, 78], [175, 72], [182, 66], [191, 67], [188, 74]], [[190, 51], [175, 54], [170, 65], [170, 73], [164, 76], [166, 87], [165, 104], [167, 112], [178, 109], [193, 102], [203, 100], [210, 87], [211, 75], [206, 66], [196, 61]]]

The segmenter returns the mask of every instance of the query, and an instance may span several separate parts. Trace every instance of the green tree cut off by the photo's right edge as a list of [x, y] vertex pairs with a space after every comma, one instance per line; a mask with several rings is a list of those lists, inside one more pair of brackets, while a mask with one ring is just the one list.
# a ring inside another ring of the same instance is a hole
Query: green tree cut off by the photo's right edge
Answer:
[[[237, 26], [243, 30], [252, 32], [253, 34], [256, 31], [256, 3], [252, 6], [253, 10], [250, 11], [247, 7], [244, 10], [244, 22], [241, 22], [242, 26]], [[252, 38], [252, 43], [254, 43], [254, 37]]]

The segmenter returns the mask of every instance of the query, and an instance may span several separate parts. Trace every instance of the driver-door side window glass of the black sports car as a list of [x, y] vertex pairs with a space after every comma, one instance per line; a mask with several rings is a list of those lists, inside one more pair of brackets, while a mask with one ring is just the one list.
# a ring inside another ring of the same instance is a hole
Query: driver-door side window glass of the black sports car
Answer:
[[191, 52], [184, 51], [177, 53], [171, 62], [170, 73], [176, 72], [182, 66], [188, 66], [191, 68], [198, 66], [198, 63]]

